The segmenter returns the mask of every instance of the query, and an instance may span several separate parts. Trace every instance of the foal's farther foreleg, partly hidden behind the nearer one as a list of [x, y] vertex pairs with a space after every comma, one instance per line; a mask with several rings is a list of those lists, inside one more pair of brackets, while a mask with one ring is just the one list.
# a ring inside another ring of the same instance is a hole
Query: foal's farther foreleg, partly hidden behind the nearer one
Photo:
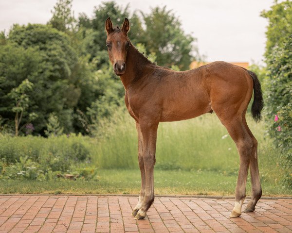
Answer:
[[144, 195], [145, 195], [145, 168], [144, 168], [144, 161], [143, 161], [143, 141], [142, 141], [142, 133], [140, 130], [140, 125], [136, 122], [136, 129], [138, 133], [138, 160], [139, 160], [139, 167], [141, 171], [141, 190], [140, 190], [140, 196], [139, 201], [137, 205], [135, 206], [132, 215], [136, 216], [138, 211], [140, 210]]

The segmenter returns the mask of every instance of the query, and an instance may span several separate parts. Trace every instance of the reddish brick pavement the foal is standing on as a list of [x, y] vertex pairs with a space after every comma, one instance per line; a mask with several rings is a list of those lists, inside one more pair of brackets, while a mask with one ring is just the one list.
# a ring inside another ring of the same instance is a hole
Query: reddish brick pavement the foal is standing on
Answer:
[[292, 199], [262, 199], [256, 212], [229, 218], [231, 199], [158, 197], [145, 219], [134, 220], [131, 213], [137, 200], [129, 196], [0, 196], [0, 233], [292, 232]]

